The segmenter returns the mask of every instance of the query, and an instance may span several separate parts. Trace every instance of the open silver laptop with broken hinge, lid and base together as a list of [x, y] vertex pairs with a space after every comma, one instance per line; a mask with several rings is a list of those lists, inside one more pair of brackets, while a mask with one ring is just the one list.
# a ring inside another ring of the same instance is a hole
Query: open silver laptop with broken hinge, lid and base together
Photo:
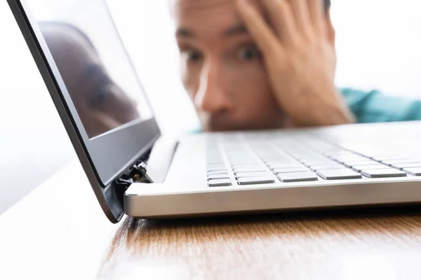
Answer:
[[421, 202], [420, 122], [168, 140], [104, 1], [8, 3], [112, 223]]

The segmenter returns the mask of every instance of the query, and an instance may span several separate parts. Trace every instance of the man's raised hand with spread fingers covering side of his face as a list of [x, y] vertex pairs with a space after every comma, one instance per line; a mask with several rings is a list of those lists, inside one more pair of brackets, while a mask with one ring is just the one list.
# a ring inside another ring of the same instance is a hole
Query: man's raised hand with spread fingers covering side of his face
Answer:
[[[239, 0], [243, 21], [262, 52], [274, 94], [295, 126], [340, 125], [354, 117], [335, 89], [335, 31], [323, 0]], [[328, 36], [330, 35], [330, 36]]]

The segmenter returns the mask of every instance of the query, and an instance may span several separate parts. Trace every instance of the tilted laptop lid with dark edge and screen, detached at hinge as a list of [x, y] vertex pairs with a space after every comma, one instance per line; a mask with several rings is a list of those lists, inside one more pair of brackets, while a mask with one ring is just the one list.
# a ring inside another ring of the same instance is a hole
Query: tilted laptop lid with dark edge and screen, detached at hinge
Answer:
[[102, 209], [116, 223], [124, 192], [117, 179], [147, 155], [160, 130], [107, 3], [8, 3]]

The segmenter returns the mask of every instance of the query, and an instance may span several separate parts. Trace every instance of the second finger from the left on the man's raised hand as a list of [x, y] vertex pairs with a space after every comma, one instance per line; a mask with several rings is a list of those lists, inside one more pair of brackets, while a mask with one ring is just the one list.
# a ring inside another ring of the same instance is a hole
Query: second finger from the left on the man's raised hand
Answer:
[[262, 0], [276, 34], [283, 43], [291, 43], [296, 38], [297, 27], [293, 9], [287, 0]]

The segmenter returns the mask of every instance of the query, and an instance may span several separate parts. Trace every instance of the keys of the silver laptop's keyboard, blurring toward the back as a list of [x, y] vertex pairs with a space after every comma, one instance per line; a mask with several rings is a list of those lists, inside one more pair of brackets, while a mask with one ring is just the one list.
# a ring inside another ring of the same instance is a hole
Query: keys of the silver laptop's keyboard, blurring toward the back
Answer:
[[208, 143], [209, 187], [421, 176], [421, 160], [359, 153], [316, 137], [288, 140], [227, 134]]

